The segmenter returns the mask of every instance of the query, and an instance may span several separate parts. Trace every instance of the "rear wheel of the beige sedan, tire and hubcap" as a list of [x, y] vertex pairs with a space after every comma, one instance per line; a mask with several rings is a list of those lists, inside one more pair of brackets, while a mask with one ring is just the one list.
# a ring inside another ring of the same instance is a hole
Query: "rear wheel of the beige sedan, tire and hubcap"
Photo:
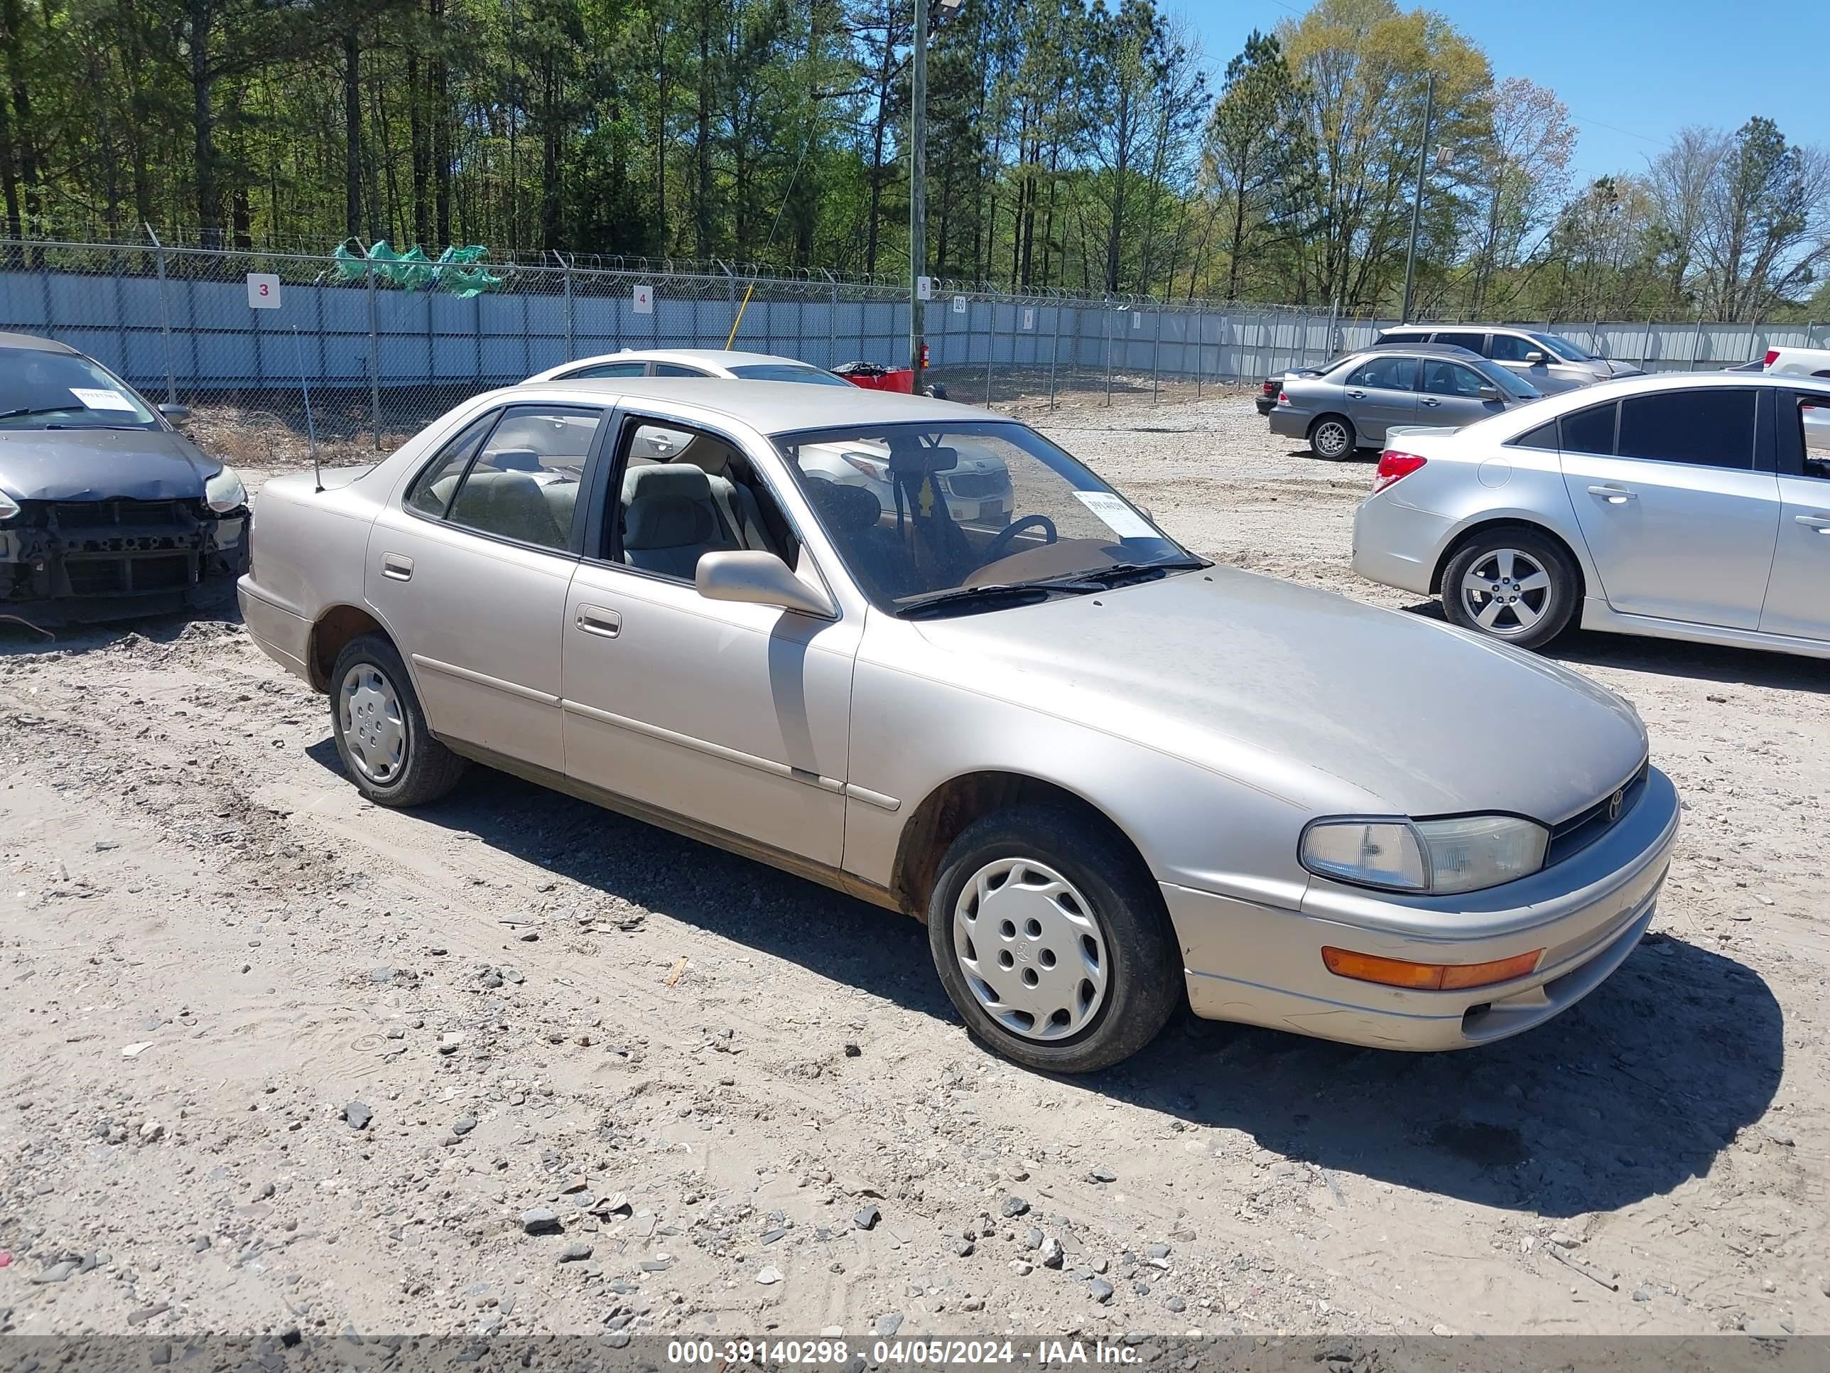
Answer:
[[355, 789], [377, 805], [425, 805], [463, 776], [436, 738], [399, 652], [379, 633], [344, 644], [331, 668], [331, 732]]

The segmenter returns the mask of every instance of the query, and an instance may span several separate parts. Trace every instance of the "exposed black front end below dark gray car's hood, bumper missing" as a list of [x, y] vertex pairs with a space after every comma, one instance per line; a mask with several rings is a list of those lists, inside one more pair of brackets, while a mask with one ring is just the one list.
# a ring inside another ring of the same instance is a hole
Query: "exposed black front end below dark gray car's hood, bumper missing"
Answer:
[[0, 525], [0, 611], [64, 624], [188, 604], [247, 568], [247, 509], [185, 500], [22, 502]]

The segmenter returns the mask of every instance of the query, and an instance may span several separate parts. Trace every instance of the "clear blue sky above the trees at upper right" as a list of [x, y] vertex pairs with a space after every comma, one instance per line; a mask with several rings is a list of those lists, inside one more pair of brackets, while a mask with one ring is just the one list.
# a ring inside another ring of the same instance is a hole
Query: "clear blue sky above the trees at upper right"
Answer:
[[[1400, 0], [1405, 9], [1418, 0]], [[1213, 82], [1254, 29], [1301, 0], [1168, 0], [1200, 35]], [[1435, 0], [1486, 49], [1495, 77], [1557, 92], [1581, 130], [1579, 179], [1643, 170], [1685, 124], [1764, 114], [1793, 143], [1830, 146], [1830, 4], [1781, 0]]]

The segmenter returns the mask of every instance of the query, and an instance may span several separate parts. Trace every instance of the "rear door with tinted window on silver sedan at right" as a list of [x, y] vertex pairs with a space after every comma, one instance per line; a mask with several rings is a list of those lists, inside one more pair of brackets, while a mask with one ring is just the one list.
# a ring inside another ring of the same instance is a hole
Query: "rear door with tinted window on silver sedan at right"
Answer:
[[1614, 610], [1759, 626], [1779, 525], [1771, 423], [1771, 392], [1757, 386], [1643, 392], [1563, 416], [1563, 481]]

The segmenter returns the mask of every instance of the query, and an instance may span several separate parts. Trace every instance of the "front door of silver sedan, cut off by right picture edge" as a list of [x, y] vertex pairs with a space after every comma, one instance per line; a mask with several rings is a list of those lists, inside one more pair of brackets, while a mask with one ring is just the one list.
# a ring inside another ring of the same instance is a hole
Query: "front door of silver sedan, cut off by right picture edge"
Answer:
[[1830, 395], [1775, 401], [1781, 505], [1760, 628], [1830, 639]]

